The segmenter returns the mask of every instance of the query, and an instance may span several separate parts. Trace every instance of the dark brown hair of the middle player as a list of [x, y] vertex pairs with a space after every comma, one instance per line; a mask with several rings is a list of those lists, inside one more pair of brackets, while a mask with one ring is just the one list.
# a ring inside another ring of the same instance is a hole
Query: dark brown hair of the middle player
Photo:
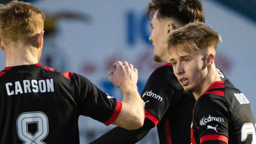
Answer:
[[199, 0], [152, 0], [147, 7], [147, 18], [158, 10], [157, 18], [174, 18], [182, 24], [205, 22], [203, 5]]

